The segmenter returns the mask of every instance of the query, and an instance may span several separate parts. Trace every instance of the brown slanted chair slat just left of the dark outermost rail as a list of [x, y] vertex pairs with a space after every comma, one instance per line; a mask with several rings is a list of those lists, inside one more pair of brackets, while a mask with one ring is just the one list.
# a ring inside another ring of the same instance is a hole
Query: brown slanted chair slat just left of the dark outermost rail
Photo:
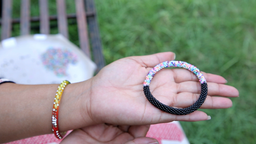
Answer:
[[76, 6], [76, 21], [78, 24], [80, 48], [85, 52], [85, 54], [89, 58], [91, 58], [84, 1], [75, 0], [75, 6]]

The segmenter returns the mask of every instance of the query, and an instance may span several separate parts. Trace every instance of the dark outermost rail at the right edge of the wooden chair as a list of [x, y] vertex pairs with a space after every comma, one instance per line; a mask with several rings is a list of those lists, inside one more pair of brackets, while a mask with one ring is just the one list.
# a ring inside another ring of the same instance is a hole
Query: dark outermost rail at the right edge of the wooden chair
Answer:
[[94, 15], [87, 17], [89, 35], [92, 43], [92, 51], [94, 62], [97, 64], [98, 73], [105, 66], [105, 60], [102, 52], [102, 46], [100, 41], [100, 35], [98, 30], [97, 14], [95, 10], [95, 4], [93, 0], [85, 0], [86, 13], [95, 13]]

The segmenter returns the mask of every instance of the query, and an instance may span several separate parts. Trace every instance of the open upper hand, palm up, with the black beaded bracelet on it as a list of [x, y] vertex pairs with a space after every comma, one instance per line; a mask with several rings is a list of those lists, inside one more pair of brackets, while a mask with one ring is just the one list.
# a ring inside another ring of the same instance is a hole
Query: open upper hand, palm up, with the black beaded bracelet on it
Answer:
[[[143, 93], [143, 82], [147, 73], [158, 63], [174, 60], [172, 52], [148, 56], [128, 57], [114, 61], [91, 79], [89, 102], [84, 109], [96, 123], [115, 125], [147, 125], [173, 120], [207, 120], [205, 112], [195, 111], [189, 115], [172, 115], [154, 107]], [[239, 96], [238, 90], [225, 85], [226, 80], [203, 72], [208, 84], [208, 96], [201, 108], [230, 108], [227, 97]], [[150, 83], [150, 90], [160, 102], [178, 108], [195, 103], [201, 85], [195, 74], [185, 69], [163, 69]], [[222, 96], [222, 97], [216, 97]], [[86, 103], [86, 105], [85, 105]]]

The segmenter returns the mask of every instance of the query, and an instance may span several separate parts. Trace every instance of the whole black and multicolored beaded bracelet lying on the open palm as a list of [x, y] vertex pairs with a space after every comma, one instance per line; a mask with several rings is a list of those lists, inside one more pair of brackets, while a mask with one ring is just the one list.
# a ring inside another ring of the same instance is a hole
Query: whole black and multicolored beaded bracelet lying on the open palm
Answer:
[[[185, 68], [191, 72], [193, 72], [197, 78], [199, 79], [199, 82], [201, 84], [201, 94], [198, 98], [198, 100], [195, 102], [195, 104], [193, 104], [192, 106], [188, 107], [188, 108], [173, 108], [173, 107], [169, 107], [161, 102], [159, 102], [150, 92], [149, 90], [149, 84], [153, 78], [153, 76], [160, 71], [163, 68], [166, 67], [180, 67], [180, 68]], [[143, 83], [143, 88], [144, 88], [144, 94], [146, 96], [146, 98], [148, 99], [148, 101], [153, 104], [155, 107], [161, 109], [162, 111], [171, 113], [171, 114], [175, 114], [175, 115], [186, 115], [186, 114], [190, 114], [192, 112], [194, 112], [195, 110], [197, 110], [198, 108], [200, 108], [202, 106], [202, 104], [204, 103], [206, 96], [207, 96], [207, 82], [206, 79], [203, 75], [203, 73], [197, 69], [194, 65], [189, 64], [187, 62], [184, 61], [165, 61], [162, 62], [158, 65], [156, 65], [153, 69], [151, 69], [148, 74], [146, 75], [146, 79]]]

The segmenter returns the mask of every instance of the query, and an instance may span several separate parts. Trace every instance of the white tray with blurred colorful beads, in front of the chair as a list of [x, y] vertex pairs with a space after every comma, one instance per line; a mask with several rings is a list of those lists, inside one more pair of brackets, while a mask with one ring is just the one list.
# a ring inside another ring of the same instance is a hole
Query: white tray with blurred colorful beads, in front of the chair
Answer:
[[17, 84], [77, 83], [95, 70], [96, 64], [61, 35], [11, 37], [0, 45], [0, 77]]

